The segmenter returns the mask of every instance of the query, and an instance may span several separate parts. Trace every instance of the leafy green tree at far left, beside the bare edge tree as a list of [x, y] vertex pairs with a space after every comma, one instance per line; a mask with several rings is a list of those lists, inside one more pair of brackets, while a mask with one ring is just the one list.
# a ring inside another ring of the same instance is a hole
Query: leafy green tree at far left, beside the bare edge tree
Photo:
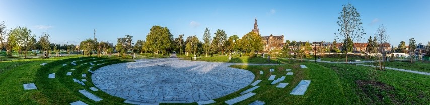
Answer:
[[34, 34], [31, 34], [31, 30], [27, 29], [27, 27], [17, 27], [11, 30], [10, 36], [15, 37], [16, 45], [19, 50], [23, 50], [24, 58], [27, 58], [27, 50], [29, 50], [29, 46], [31, 46], [31, 39], [36, 37]]

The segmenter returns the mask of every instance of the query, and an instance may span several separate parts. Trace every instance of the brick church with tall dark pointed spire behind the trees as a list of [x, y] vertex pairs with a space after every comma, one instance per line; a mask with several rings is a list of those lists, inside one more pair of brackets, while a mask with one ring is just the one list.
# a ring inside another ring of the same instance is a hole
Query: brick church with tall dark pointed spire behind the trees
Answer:
[[[257, 18], [255, 18], [254, 28], [252, 29], [252, 31], [256, 34], [260, 34], [260, 30], [258, 29], [257, 24]], [[263, 53], [268, 53], [272, 50], [282, 50], [282, 47], [285, 44], [283, 34], [277, 36], [272, 34], [270, 34], [270, 36], [261, 36], [261, 40], [264, 44]]]

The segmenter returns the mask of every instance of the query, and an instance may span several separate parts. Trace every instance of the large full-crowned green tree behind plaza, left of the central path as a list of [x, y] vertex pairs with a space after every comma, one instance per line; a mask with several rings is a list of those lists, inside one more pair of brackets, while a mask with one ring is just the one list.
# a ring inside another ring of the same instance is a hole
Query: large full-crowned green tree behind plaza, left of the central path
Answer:
[[153, 53], [168, 51], [171, 48], [173, 35], [167, 27], [152, 26], [147, 35], [147, 43], [153, 50]]

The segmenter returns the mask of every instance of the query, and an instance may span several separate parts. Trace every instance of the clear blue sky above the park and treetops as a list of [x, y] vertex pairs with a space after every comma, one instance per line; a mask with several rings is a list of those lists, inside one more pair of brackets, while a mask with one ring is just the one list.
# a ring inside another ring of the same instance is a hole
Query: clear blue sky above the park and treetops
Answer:
[[37, 37], [48, 31], [59, 44], [79, 44], [93, 38], [94, 29], [99, 41], [115, 44], [127, 34], [145, 40], [153, 25], [168, 27], [174, 37], [202, 40], [206, 27], [212, 36], [223, 29], [242, 37], [257, 18], [262, 36], [331, 42], [348, 2], [361, 13], [366, 39], [384, 24], [395, 46], [410, 37], [430, 41], [429, 0], [0, 0], [0, 21], [9, 29], [26, 26]]

